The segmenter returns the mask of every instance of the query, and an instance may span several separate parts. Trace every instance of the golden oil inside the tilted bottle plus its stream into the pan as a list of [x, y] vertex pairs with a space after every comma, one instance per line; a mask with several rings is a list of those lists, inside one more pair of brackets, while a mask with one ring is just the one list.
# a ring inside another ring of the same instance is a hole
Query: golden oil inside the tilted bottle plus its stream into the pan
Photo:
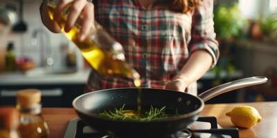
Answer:
[[[48, 14], [51, 19], [53, 19], [53, 12], [55, 6], [48, 4]], [[64, 32], [64, 26], [66, 23], [66, 16], [62, 16], [60, 21], [57, 21], [57, 24], [60, 26], [62, 32]], [[84, 41], [79, 41], [78, 36], [80, 35], [80, 26], [73, 26], [69, 32], [64, 32], [67, 39], [73, 41], [76, 46], [82, 52], [82, 56], [86, 59], [91, 67], [94, 70], [98, 71], [101, 75], [121, 75], [126, 77], [133, 77], [134, 85], [138, 88], [138, 97], [137, 97], [137, 110], [134, 114], [141, 114], [141, 79], [140, 77], [134, 77], [137, 75], [135, 70], [132, 68], [127, 68], [127, 64], [118, 59], [112, 58], [109, 53], [100, 49], [100, 46], [97, 46], [97, 43], [94, 43], [89, 38]]]

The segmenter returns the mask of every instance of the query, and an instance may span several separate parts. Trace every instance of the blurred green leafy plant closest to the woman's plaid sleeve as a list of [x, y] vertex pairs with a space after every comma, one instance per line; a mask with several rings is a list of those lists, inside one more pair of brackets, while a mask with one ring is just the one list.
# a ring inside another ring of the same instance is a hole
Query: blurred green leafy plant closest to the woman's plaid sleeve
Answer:
[[233, 45], [233, 39], [242, 37], [244, 34], [242, 31], [247, 22], [240, 13], [238, 2], [234, 3], [233, 6], [217, 5], [214, 14], [215, 33], [220, 42], [220, 59], [217, 66], [211, 71], [215, 73], [213, 83], [217, 86], [223, 81], [223, 78], [220, 77], [221, 72], [226, 71], [227, 73], [224, 79], [231, 79], [230, 74], [235, 70], [235, 66], [233, 66], [229, 51]]

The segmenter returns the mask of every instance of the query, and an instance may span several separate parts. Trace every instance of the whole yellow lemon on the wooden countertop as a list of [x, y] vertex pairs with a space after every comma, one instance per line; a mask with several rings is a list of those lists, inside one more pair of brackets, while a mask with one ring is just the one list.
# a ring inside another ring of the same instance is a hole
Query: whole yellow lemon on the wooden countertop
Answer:
[[231, 117], [231, 121], [235, 126], [242, 128], [251, 128], [262, 120], [258, 110], [251, 106], [236, 106], [226, 115]]

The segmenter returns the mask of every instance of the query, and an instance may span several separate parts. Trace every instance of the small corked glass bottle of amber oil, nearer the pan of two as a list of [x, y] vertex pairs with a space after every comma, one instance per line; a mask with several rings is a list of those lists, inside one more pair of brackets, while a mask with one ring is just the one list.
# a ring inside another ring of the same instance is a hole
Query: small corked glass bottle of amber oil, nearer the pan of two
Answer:
[[19, 132], [22, 138], [46, 138], [49, 130], [42, 118], [41, 92], [35, 89], [17, 92], [19, 110]]

